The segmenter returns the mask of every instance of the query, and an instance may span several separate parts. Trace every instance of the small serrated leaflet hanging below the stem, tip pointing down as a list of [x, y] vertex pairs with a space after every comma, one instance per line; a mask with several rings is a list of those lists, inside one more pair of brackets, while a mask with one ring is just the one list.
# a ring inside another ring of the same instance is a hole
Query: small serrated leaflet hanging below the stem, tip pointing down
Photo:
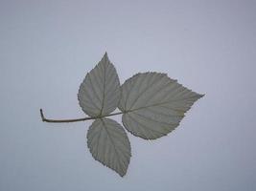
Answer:
[[94, 159], [126, 175], [130, 159], [130, 144], [124, 128], [113, 119], [99, 118], [87, 133], [88, 148]]

